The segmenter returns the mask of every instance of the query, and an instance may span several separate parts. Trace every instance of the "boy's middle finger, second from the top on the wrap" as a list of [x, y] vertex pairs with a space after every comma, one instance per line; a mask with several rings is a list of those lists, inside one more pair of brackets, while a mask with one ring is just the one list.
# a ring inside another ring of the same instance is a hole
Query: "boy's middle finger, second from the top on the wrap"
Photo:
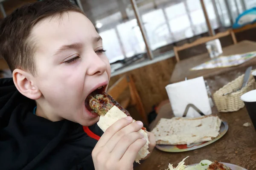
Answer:
[[123, 127], [121, 130], [116, 132], [116, 134], [114, 134], [111, 137], [111, 139], [108, 140], [108, 142], [105, 144], [105, 147], [108, 148], [109, 152], [111, 152], [116, 147], [116, 144], [119, 143], [119, 140], [122, 140], [122, 138], [125, 137], [125, 135], [132, 132], [137, 132], [142, 127], [143, 127], [143, 123], [140, 121], [131, 123], [130, 125]]

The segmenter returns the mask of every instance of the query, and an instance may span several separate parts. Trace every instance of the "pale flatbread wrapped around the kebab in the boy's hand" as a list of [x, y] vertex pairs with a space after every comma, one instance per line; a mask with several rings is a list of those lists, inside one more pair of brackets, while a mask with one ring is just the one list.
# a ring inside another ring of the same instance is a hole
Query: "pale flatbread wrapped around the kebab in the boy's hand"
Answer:
[[[99, 118], [99, 122], [97, 123], [97, 125], [99, 126], [99, 128], [101, 128], [101, 130], [103, 132], [105, 132], [108, 127], [110, 127], [111, 125], [113, 125], [113, 123], [115, 123], [117, 120], [126, 117], [127, 115], [125, 113], [123, 113], [119, 108], [117, 108], [116, 106], [113, 106], [108, 113], [106, 113], [105, 116], [100, 116]], [[133, 120], [133, 122], [135, 122], [135, 120]], [[148, 134], [145, 132], [145, 130], [140, 129], [139, 130], [140, 133], [142, 133], [144, 135], [144, 138], [147, 140], [146, 144], [140, 149], [140, 151], [138, 152], [135, 161], [137, 163], [140, 163], [140, 160], [145, 158], [149, 151], [148, 151], [148, 144], [150, 144], [149, 140], [148, 140]]]

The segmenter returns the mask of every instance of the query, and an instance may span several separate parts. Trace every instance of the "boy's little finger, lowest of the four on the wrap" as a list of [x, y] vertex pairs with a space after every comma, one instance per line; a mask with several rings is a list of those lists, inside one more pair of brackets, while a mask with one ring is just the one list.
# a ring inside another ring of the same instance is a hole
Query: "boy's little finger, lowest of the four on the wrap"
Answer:
[[131, 144], [128, 149], [126, 150], [125, 154], [122, 156], [121, 160], [122, 162], [128, 162], [133, 163], [136, 159], [136, 156], [140, 149], [146, 144], [146, 139], [141, 138], [137, 139], [133, 144]]

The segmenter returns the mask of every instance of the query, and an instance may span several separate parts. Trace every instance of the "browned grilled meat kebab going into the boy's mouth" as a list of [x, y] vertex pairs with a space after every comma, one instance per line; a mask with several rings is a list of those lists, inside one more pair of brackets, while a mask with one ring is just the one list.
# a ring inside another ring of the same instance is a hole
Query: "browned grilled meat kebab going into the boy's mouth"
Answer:
[[116, 102], [109, 94], [102, 92], [102, 94], [93, 94], [89, 97], [89, 106], [93, 112], [99, 116], [105, 116], [105, 114], [113, 107], [116, 106], [127, 116], [130, 116], [129, 112], [126, 111], [118, 102]]

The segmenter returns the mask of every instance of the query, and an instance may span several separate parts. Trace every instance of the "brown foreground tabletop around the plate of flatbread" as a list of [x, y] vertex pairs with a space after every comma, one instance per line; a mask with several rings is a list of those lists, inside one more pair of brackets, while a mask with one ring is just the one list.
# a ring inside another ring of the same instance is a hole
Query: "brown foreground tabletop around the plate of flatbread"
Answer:
[[[213, 79], [207, 79], [211, 92], [213, 93], [240, 74], [242, 73], [236, 70], [220, 74]], [[160, 118], [172, 118], [174, 116], [169, 100], [163, 101], [158, 106], [157, 113], [157, 118], [149, 126], [150, 129], [157, 124]], [[229, 125], [229, 130], [221, 139], [205, 147], [182, 153], [167, 153], [155, 148], [151, 156], [134, 169], [165, 170], [169, 163], [176, 166], [183, 158], [189, 156], [185, 161], [186, 165], [209, 159], [237, 164], [247, 170], [256, 170], [256, 132], [246, 108], [232, 113], [218, 113], [217, 109], [213, 107], [212, 114], [218, 115]], [[247, 122], [250, 122], [251, 126], [243, 126]]]

